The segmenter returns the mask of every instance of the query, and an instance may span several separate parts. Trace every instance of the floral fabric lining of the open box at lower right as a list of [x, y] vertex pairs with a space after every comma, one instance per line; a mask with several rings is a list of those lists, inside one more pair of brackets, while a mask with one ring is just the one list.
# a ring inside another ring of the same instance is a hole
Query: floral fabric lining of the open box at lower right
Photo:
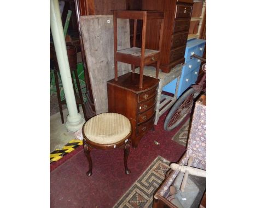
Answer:
[[[187, 151], [180, 160], [179, 164], [187, 165], [188, 158], [193, 157], [191, 167], [206, 170], [206, 105], [196, 101], [191, 129], [188, 138]], [[168, 189], [176, 178], [178, 171], [173, 171], [166, 180], [158, 193], [164, 197], [168, 195]]]

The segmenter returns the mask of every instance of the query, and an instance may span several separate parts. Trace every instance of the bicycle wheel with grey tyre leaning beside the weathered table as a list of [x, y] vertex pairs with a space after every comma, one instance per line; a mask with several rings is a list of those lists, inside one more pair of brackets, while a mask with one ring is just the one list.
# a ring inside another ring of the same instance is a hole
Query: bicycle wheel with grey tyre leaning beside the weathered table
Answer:
[[194, 98], [198, 94], [199, 93], [194, 88], [190, 88], [185, 91], [181, 97], [179, 97], [165, 119], [164, 129], [166, 131], [171, 131], [182, 123], [186, 115], [191, 111]]

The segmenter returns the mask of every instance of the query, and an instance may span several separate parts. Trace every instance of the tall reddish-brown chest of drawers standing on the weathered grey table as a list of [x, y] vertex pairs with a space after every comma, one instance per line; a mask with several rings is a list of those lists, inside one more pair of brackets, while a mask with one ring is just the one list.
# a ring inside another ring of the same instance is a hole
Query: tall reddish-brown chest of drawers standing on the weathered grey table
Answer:
[[[142, 10], [166, 11], [161, 47], [160, 69], [170, 72], [173, 66], [184, 63], [193, 0], [142, 0]], [[158, 48], [158, 21], [147, 22], [146, 48]]]

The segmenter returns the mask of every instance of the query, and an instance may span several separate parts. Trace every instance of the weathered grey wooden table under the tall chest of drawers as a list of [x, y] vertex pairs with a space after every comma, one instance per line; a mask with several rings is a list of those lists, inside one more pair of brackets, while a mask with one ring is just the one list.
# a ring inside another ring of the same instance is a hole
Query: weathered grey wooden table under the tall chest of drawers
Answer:
[[[155, 68], [154, 66], [145, 66], [144, 75], [155, 77]], [[139, 69], [136, 68], [135, 72], [139, 74]], [[156, 110], [155, 110], [155, 121], [154, 125], [158, 124], [159, 117], [164, 114], [170, 107], [173, 105], [173, 103], [177, 99], [177, 92], [179, 87], [179, 78], [181, 77], [182, 72], [182, 65], [178, 64], [175, 66], [169, 73], [159, 72], [159, 85], [158, 85], [158, 95], [156, 99]], [[164, 87], [172, 82], [173, 80], [177, 80], [175, 83], [174, 89], [174, 95], [166, 95], [162, 94], [162, 90]]]

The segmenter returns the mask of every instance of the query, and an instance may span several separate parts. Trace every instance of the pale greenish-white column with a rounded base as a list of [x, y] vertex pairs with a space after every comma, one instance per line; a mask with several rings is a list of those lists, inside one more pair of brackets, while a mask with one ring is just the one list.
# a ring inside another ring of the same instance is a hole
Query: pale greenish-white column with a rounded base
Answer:
[[50, 27], [69, 113], [65, 125], [68, 131], [77, 131], [85, 120], [77, 111], [58, 0], [50, 0]]

